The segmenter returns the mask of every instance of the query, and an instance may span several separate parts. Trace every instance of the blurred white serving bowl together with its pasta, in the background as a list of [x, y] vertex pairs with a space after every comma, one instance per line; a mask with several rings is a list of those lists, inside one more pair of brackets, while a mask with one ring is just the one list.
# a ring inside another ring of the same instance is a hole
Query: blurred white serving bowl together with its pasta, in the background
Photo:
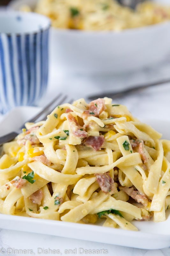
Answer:
[[[87, 14], [83, 18], [75, 15], [83, 12], [80, 12], [85, 5], [82, 1], [41, 1], [37, 5], [37, 0], [13, 0], [10, 8], [21, 10], [22, 6], [27, 11], [37, 8], [37, 12], [51, 18], [49, 48], [54, 74], [56, 70], [87, 75], [125, 73], [151, 68], [169, 56], [169, 8], [166, 15], [165, 8], [157, 8], [163, 5], [162, 0], [155, 8], [148, 4], [139, 16], [114, 5], [113, 0], [85, 0]], [[110, 3], [116, 7], [106, 8]], [[58, 9], [55, 5], [59, 5]], [[115, 14], [111, 13], [113, 9]]]

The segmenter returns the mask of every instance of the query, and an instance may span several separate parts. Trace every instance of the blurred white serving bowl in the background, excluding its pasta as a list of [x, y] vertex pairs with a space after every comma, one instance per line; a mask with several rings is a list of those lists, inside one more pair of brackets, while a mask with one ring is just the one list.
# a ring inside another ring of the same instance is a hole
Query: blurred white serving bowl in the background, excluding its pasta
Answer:
[[[33, 7], [36, 0], [13, 0], [10, 7], [23, 3]], [[55, 70], [83, 74], [150, 67], [170, 56], [169, 31], [169, 21], [120, 32], [51, 28], [50, 61]]]

